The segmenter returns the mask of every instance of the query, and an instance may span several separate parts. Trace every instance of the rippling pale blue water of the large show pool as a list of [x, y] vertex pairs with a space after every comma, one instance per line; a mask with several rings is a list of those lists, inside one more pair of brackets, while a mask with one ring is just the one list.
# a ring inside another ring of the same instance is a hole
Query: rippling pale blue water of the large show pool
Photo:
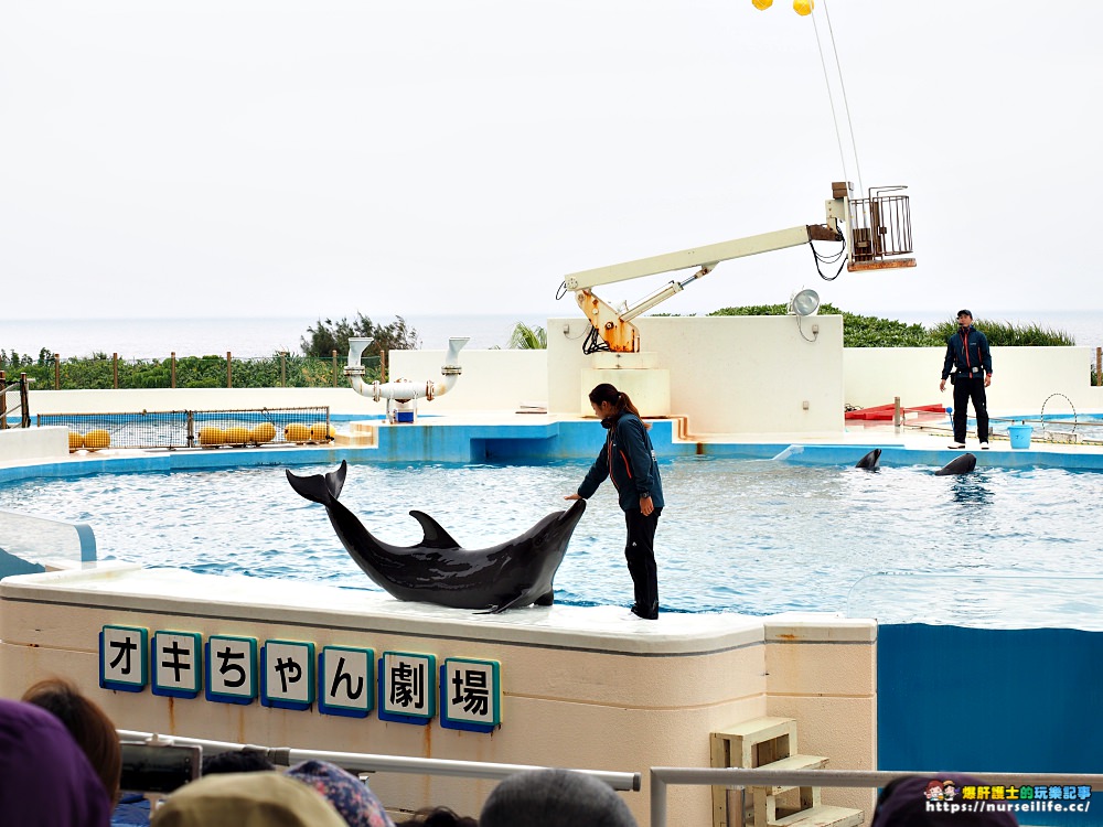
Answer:
[[[419, 540], [408, 515], [418, 508], [479, 548], [566, 507], [563, 496], [587, 468], [352, 464], [341, 501], [385, 541]], [[661, 470], [665, 610], [844, 612], [852, 587], [877, 572], [1100, 573], [1092, 504], [1103, 502], [1103, 473], [983, 468], [940, 477], [929, 466], [867, 472], [713, 458], [664, 461]], [[90, 524], [100, 559], [377, 590], [325, 509], [298, 496], [282, 468], [12, 482], [0, 485], [0, 508]], [[557, 600], [631, 604], [623, 544], [623, 515], [607, 482], [575, 530]]]

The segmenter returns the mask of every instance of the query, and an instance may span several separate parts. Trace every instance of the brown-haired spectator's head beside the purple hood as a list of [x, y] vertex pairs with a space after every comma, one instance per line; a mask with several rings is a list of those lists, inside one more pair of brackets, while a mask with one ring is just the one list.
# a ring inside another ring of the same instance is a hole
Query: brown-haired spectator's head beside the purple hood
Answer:
[[87, 755], [92, 769], [111, 799], [118, 804], [122, 776], [122, 749], [115, 723], [90, 698], [62, 678], [40, 680], [25, 692], [23, 700], [52, 712], [69, 731]]

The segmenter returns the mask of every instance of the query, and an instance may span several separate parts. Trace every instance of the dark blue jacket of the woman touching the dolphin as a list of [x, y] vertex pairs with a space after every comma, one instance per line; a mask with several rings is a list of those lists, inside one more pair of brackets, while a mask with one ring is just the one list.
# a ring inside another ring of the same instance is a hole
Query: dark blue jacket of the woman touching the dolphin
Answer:
[[647, 429], [635, 414], [624, 412], [601, 425], [609, 429], [604, 448], [578, 486], [578, 495], [589, 500], [607, 476], [611, 477], [624, 511], [639, 511], [640, 497], [651, 496], [656, 508], [663, 507], [663, 481], [651, 445]]

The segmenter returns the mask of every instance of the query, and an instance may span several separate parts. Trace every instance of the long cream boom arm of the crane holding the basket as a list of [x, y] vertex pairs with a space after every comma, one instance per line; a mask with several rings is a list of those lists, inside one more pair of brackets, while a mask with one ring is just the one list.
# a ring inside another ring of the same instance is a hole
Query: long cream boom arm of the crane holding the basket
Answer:
[[694, 247], [693, 249], [679, 253], [665, 253], [661, 256], [625, 261], [621, 265], [610, 265], [608, 267], [598, 267], [593, 270], [572, 272], [566, 277], [565, 281], [567, 282], [568, 290], [577, 291], [598, 284], [609, 284], [614, 281], [628, 281], [629, 279], [639, 279], [661, 272], [684, 270], [687, 267], [715, 266], [718, 261], [726, 261], [731, 258], [754, 256], [759, 253], [770, 253], [771, 250], [781, 250], [786, 247], [799, 247], [802, 244], [807, 244], [810, 238], [812, 238], [811, 233], [813, 228], [831, 233], [832, 235], [827, 237], [829, 240], [837, 239], [837, 234], [828, 227], [802, 224], [799, 227], [790, 229], [779, 229], [773, 233], [737, 238], [731, 241]]

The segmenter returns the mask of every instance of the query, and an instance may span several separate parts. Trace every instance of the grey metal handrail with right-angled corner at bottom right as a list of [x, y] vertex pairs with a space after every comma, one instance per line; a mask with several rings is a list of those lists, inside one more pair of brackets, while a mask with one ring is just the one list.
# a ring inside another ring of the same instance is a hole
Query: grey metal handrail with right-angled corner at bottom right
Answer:
[[993, 773], [959, 772], [874, 772], [866, 770], [746, 770], [694, 769], [685, 766], [651, 767], [651, 827], [666, 827], [666, 787], [670, 784], [692, 784], [722, 786], [735, 790], [765, 786], [816, 786], [816, 787], [882, 787], [897, 778], [914, 775], [950, 777], [971, 775], [987, 784], [1024, 786], [1027, 784], [1072, 784], [1103, 788], [1103, 775], [1097, 773]]

